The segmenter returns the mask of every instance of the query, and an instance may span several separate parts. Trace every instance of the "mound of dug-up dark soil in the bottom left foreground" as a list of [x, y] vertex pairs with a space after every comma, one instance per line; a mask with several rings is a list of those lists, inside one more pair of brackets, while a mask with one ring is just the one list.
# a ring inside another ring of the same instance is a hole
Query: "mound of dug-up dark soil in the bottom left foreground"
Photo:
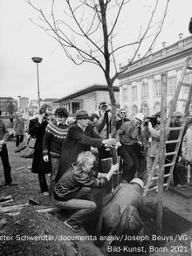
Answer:
[[24, 207], [17, 216], [1, 218], [0, 255], [103, 255], [84, 230], [74, 233], [57, 217], [38, 213], [32, 206]]

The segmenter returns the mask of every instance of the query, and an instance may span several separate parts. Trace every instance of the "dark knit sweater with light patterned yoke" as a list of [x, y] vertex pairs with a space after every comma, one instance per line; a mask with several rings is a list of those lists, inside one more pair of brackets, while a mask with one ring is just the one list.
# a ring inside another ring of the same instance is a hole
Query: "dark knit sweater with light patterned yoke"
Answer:
[[49, 123], [45, 129], [43, 138], [43, 156], [60, 157], [61, 146], [68, 131], [67, 124]]

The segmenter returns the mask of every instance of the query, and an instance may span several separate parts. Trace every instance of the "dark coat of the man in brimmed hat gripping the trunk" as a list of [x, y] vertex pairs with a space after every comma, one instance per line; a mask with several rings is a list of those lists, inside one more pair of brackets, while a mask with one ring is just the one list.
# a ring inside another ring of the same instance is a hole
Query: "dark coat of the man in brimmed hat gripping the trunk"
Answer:
[[65, 173], [72, 163], [77, 161], [79, 153], [89, 151], [91, 146], [100, 148], [102, 146], [101, 137], [95, 133], [91, 124], [83, 131], [77, 122], [69, 127], [66, 139], [61, 149], [61, 170], [58, 172], [57, 180]]

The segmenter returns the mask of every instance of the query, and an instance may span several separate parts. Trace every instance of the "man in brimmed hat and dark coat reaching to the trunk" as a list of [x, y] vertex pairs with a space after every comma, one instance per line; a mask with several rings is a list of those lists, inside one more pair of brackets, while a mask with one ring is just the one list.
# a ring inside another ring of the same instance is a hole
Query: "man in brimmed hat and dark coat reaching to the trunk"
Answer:
[[76, 121], [70, 125], [65, 141], [62, 144], [61, 168], [58, 172], [57, 180], [72, 163], [77, 161], [78, 155], [82, 151], [90, 151], [91, 146], [95, 148], [112, 147], [115, 143], [114, 139], [102, 139], [93, 130], [86, 110], [79, 109], [76, 113]]

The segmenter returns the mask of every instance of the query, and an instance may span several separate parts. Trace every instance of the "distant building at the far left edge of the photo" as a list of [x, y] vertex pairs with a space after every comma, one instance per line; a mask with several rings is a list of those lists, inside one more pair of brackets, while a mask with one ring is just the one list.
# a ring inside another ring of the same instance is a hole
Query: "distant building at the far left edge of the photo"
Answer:
[[0, 110], [2, 111], [2, 115], [9, 114], [9, 112], [14, 114], [17, 111], [17, 100], [11, 97], [0, 97]]

